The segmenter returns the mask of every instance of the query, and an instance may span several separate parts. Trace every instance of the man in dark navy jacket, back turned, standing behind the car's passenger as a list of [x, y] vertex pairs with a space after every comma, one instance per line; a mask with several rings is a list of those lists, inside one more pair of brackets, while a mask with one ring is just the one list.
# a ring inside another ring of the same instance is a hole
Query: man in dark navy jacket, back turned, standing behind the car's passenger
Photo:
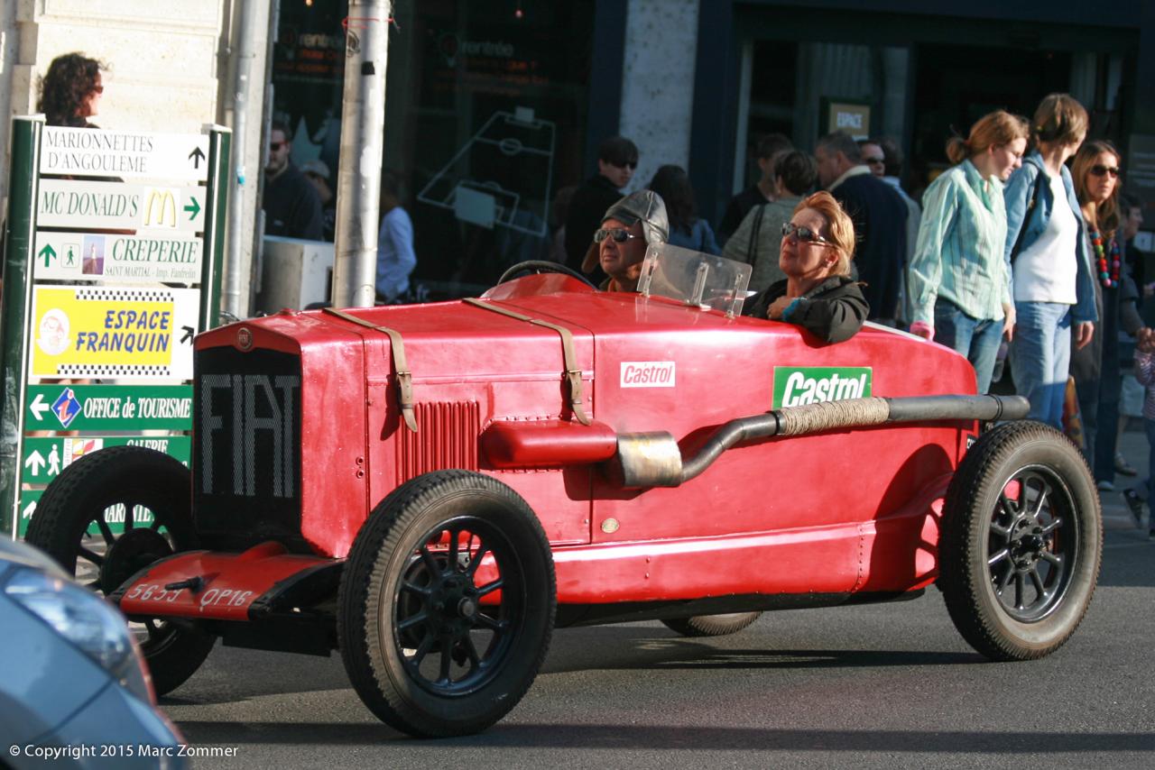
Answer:
[[855, 223], [855, 263], [870, 319], [896, 323], [907, 255], [907, 204], [862, 163], [858, 144], [841, 132], [818, 140], [818, 182]]

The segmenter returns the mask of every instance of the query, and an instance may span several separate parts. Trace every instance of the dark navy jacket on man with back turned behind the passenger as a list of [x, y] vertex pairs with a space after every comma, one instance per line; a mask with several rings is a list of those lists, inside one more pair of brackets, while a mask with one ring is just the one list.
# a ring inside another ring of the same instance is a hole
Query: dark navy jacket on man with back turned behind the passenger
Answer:
[[907, 204], [893, 187], [871, 174], [850, 177], [830, 190], [855, 220], [855, 264], [865, 284], [872, 319], [896, 319], [907, 261]]

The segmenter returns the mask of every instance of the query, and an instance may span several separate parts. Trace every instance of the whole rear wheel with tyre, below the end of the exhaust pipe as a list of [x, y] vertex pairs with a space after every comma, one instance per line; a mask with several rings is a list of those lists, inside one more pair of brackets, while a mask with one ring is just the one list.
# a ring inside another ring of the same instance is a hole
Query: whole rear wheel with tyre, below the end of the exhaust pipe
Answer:
[[1063, 645], [1095, 592], [1098, 494], [1082, 454], [1040, 423], [1008, 423], [970, 448], [947, 491], [939, 585], [951, 619], [992, 660]]

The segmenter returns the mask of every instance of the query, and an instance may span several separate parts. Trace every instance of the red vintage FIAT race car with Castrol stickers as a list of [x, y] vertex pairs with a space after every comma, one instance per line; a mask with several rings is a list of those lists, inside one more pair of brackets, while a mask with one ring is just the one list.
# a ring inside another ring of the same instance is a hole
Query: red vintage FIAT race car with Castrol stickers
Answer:
[[216, 637], [340, 650], [423, 737], [499, 720], [556, 627], [710, 636], [938, 582], [991, 659], [1075, 630], [1098, 498], [1066, 438], [1015, 419], [1024, 399], [975, 395], [966, 359], [903, 332], [826, 345], [742, 317], [733, 262], [655, 249], [638, 294], [564, 272], [208, 331], [192, 470], [84, 457], [28, 539], [141, 623], [158, 693]]

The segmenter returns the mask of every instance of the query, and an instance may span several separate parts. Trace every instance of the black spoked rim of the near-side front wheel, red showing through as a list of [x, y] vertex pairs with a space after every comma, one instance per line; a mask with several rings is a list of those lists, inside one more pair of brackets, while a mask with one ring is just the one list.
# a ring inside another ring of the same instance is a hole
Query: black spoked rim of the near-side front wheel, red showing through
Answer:
[[522, 629], [524, 573], [505, 532], [471, 516], [418, 543], [392, 604], [396, 653], [422, 689], [469, 695], [501, 672]]

